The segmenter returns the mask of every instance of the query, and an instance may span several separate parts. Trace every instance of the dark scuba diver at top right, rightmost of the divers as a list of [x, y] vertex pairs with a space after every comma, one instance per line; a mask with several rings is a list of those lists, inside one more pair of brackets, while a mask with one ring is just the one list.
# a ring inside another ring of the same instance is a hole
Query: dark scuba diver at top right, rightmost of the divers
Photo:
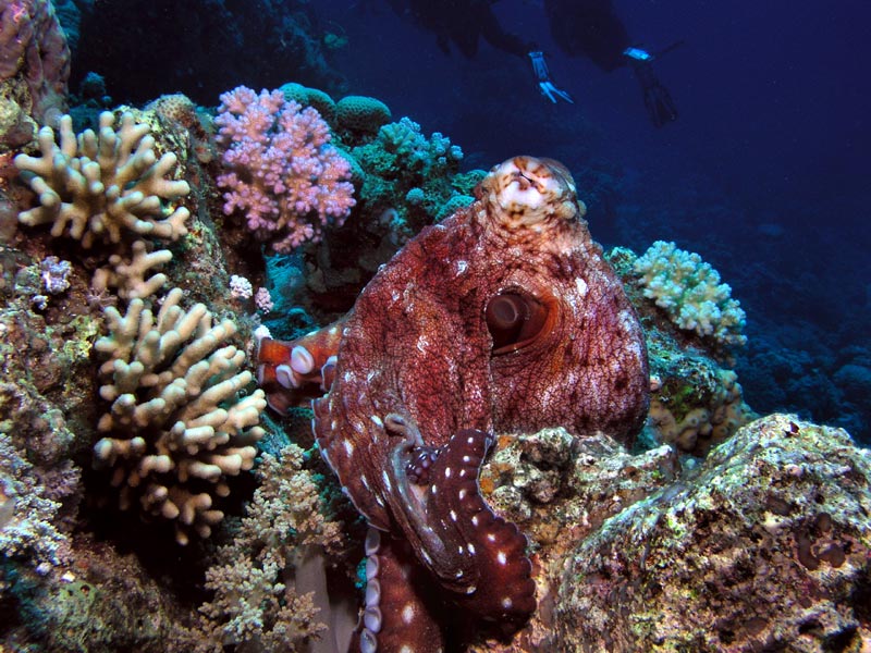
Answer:
[[[611, 0], [544, 0], [544, 11], [551, 35], [563, 52], [569, 57], [586, 57], [605, 72], [629, 65], [641, 85], [645, 108], [653, 125], [662, 127], [677, 120], [677, 108], [668, 90], [653, 73], [652, 63], [680, 42], [655, 54], [633, 46], [626, 27], [614, 13]], [[535, 59], [532, 67], [536, 70]], [[552, 97], [550, 99], [555, 101]]]

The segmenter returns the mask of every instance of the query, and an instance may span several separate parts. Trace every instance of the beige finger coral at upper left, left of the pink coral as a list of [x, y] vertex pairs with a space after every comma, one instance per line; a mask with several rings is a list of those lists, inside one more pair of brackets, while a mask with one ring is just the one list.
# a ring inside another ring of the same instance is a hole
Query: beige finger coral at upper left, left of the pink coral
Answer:
[[51, 224], [51, 235], [68, 234], [85, 248], [95, 242], [119, 244], [131, 234], [176, 239], [187, 233], [187, 209], [169, 211], [165, 201], [187, 195], [187, 182], [164, 178], [176, 157], [155, 153], [150, 127], [131, 113], [100, 114], [99, 134], [87, 130], [76, 138], [69, 115], [60, 121], [60, 145], [54, 131], [39, 131], [41, 157], [19, 155], [15, 165], [39, 196], [40, 206], [23, 211], [19, 220], [34, 226]]

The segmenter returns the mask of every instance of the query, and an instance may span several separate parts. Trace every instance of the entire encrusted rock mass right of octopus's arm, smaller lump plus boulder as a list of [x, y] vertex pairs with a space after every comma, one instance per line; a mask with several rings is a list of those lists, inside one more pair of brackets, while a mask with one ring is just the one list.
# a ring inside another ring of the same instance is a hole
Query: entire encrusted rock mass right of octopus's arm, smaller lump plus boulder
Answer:
[[683, 465], [506, 434], [480, 482], [532, 540], [540, 608], [470, 651], [871, 645], [871, 456], [844, 431], [773, 415]]

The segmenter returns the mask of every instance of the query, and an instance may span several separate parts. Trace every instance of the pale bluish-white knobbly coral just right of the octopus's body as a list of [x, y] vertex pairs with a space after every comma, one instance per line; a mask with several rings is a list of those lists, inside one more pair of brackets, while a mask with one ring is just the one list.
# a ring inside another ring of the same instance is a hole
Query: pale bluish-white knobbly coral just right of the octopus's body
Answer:
[[635, 262], [645, 297], [654, 299], [680, 329], [720, 345], [744, 345], [745, 313], [728, 284], [698, 254], [657, 241]]

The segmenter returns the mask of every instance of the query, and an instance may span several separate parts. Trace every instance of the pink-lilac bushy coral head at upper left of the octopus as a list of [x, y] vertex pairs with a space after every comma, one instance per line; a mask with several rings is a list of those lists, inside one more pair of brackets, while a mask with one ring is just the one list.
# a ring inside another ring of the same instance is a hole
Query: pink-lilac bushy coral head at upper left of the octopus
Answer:
[[319, 241], [330, 218], [341, 225], [354, 206], [351, 165], [331, 145], [330, 127], [311, 107], [285, 100], [280, 90], [240, 86], [221, 96], [218, 140], [230, 171], [224, 212], [240, 209], [248, 226], [290, 251]]

